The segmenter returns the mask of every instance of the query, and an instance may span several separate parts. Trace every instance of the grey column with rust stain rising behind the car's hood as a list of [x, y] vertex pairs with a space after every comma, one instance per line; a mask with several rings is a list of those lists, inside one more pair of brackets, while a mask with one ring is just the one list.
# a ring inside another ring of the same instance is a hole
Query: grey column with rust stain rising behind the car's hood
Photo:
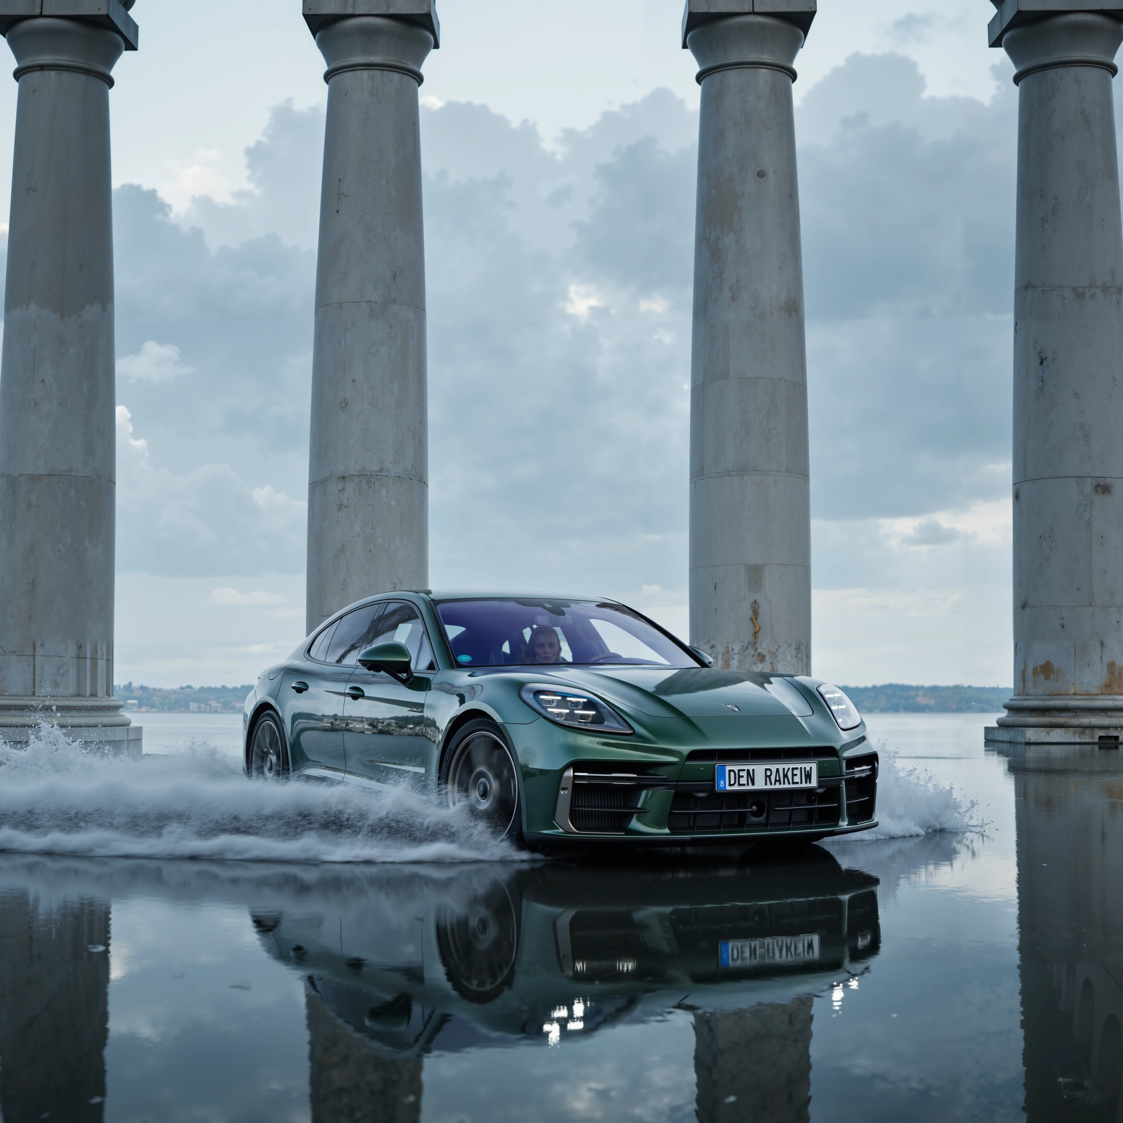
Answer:
[[792, 64], [814, 0], [688, 0], [702, 85], [691, 358], [691, 642], [811, 672], [811, 501]]

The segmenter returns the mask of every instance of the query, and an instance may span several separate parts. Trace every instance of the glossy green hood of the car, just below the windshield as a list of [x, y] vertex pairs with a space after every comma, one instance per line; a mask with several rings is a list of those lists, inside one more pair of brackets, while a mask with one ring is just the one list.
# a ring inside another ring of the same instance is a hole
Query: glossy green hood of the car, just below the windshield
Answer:
[[[690, 667], [574, 667], [564, 674], [550, 668], [551, 678], [572, 682], [604, 694], [609, 701], [655, 718], [794, 718], [792, 709], [769, 694], [769, 675], [742, 675], [732, 670]], [[794, 686], [785, 685], [795, 691]], [[736, 706], [736, 709], [733, 709]], [[807, 704], [805, 715], [810, 716]]]

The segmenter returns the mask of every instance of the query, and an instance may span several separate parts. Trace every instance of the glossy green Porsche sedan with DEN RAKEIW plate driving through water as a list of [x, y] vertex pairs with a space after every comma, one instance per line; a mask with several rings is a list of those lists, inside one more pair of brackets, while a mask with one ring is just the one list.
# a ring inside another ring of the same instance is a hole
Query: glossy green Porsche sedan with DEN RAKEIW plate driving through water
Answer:
[[877, 825], [877, 754], [840, 690], [711, 664], [615, 601], [386, 593], [261, 675], [246, 774], [410, 785], [533, 847]]

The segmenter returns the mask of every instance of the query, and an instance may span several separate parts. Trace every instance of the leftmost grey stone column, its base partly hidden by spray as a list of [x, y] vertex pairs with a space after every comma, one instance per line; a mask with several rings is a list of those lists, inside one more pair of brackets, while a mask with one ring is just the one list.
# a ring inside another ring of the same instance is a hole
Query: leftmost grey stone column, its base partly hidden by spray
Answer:
[[[44, 3], [52, 18], [34, 16]], [[0, 0], [0, 33], [19, 82], [0, 367], [0, 738], [26, 739], [46, 718], [139, 754], [140, 730], [113, 697], [109, 173], [110, 71], [137, 28], [118, 0]]]

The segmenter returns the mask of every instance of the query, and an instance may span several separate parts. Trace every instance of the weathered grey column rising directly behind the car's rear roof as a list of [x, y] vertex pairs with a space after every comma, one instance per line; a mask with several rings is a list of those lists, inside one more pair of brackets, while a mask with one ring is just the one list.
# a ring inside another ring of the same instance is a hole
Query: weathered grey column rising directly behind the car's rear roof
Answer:
[[[348, 15], [341, 17], [340, 10]], [[418, 86], [431, 0], [304, 0], [328, 64], [308, 483], [308, 630], [429, 574]]]

